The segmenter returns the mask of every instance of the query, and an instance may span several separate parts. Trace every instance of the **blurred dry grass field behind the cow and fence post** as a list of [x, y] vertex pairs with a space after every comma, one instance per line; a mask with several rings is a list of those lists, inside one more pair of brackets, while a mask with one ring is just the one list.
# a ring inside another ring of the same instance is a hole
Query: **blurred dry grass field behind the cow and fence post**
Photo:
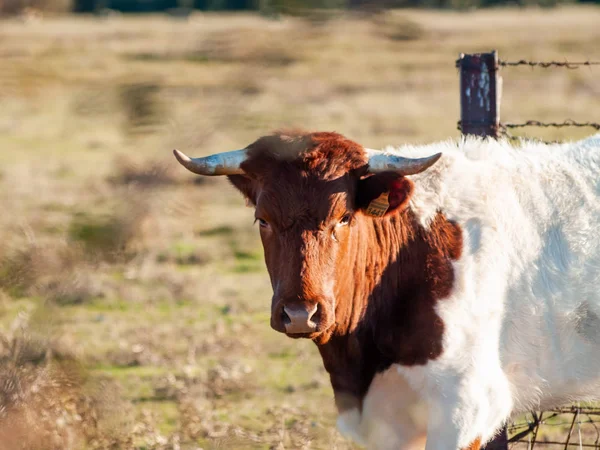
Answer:
[[[600, 60], [600, 9], [0, 21], [0, 449], [351, 449], [268, 324], [258, 231], [171, 149], [284, 126], [456, 137], [460, 52]], [[598, 120], [598, 68], [503, 72], [502, 117]], [[587, 129], [531, 129], [547, 139]]]

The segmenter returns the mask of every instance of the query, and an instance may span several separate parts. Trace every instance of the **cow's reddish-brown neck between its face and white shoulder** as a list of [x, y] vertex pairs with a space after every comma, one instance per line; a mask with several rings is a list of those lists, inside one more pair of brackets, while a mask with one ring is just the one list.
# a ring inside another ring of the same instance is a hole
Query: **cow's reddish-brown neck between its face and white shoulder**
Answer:
[[439, 356], [444, 326], [434, 306], [451, 291], [451, 261], [462, 248], [460, 228], [442, 214], [427, 229], [410, 210], [359, 220], [338, 267], [337, 328], [317, 342], [341, 409], [347, 396], [360, 406], [391, 364]]

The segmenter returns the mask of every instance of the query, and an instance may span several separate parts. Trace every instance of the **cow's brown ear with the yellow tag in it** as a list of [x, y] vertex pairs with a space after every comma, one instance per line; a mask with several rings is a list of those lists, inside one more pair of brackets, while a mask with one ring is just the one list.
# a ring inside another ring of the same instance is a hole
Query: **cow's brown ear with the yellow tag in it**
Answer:
[[358, 182], [356, 206], [363, 213], [383, 217], [403, 211], [413, 192], [412, 181], [395, 172], [382, 172]]

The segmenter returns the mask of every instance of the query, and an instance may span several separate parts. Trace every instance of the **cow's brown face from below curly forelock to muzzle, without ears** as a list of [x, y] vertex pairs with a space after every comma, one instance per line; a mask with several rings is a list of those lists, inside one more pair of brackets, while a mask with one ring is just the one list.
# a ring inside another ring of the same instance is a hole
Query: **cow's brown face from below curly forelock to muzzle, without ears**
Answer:
[[271, 326], [312, 337], [335, 323], [337, 272], [356, 226], [355, 183], [288, 173], [259, 188], [255, 217], [273, 286]]

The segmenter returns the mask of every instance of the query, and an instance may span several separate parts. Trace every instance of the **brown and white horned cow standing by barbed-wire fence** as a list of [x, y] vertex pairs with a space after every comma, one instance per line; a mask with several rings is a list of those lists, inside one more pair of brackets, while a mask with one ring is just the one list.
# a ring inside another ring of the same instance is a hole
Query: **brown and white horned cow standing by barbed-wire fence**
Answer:
[[600, 398], [600, 135], [376, 151], [283, 131], [175, 156], [254, 206], [271, 327], [315, 342], [369, 448], [477, 449], [512, 415]]

